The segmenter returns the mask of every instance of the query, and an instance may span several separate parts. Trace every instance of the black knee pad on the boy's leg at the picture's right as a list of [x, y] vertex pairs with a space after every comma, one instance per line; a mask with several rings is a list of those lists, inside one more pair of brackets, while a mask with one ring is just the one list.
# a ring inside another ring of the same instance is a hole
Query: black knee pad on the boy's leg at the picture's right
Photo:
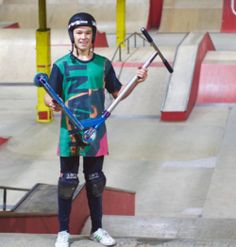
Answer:
[[106, 185], [106, 177], [103, 172], [94, 172], [86, 176], [86, 188], [88, 193], [100, 197]]

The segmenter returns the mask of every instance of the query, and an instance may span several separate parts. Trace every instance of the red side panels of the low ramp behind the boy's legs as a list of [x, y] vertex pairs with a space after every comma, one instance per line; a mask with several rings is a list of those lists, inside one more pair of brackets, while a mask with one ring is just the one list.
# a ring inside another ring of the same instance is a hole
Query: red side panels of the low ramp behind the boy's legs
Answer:
[[[106, 187], [103, 194], [104, 215], [135, 215], [135, 193]], [[56, 234], [58, 232], [57, 213], [17, 213], [0, 212], [0, 232]], [[87, 196], [83, 186], [73, 200], [71, 211], [71, 234], [80, 234], [89, 217]]]

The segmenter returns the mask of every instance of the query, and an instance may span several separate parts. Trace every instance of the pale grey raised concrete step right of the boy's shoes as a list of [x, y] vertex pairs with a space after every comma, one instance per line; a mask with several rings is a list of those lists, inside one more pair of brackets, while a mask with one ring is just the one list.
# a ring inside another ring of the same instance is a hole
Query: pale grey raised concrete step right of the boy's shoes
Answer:
[[[149, 239], [227, 239], [236, 242], [236, 219], [160, 218], [156, 216], [104, 216], [103, 227], [114, 237]], [[90, 232], [90, 220], [82, 230]]]

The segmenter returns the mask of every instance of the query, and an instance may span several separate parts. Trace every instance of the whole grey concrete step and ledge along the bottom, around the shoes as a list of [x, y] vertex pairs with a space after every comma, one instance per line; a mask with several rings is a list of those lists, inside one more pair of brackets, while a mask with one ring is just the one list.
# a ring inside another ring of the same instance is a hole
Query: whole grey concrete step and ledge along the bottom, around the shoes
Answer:
[[[104, 216], [103, 227], [119, 247], [233, 247], [235, 219]], [[89, 221], [81, 235], [72, 235], [70, 247], [99, 247], [89, 240]], [[51, 247], [55, 234], [0, 233], [0, 247]]]

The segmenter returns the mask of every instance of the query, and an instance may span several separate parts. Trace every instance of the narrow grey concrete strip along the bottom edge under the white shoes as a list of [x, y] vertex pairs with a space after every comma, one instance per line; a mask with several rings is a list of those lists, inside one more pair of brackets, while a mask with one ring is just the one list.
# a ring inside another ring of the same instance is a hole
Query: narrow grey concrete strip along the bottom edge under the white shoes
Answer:
[[[0, 247], [49, 247], [54, 246], [54, 235], [0, 234]], [[117, 247], [235, 247], [235, 241], [227, 240], [192, 240], [192, 239], [152, 239], [152, 238], [116, 238]], [[72, 236], [70, 247], [101, 247], [92, 242], [88, 236]]]

